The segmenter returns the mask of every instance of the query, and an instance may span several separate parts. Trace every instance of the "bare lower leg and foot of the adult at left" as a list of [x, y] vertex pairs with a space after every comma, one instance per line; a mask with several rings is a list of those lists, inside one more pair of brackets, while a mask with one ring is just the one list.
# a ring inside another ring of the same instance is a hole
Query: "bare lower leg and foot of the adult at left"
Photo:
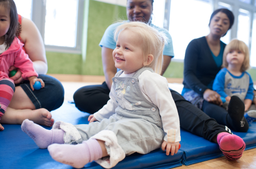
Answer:
[[1, 117], [1, 123], [3, 124], [22, 124], [25, 119], [29, 119], [36, 124], [52, 126], [54, 119], [50, 111], [45, 108], [39, 108], [36, 110], [31, 109], [13, 109], [8, 107], [5, 112], [5, 116]]

